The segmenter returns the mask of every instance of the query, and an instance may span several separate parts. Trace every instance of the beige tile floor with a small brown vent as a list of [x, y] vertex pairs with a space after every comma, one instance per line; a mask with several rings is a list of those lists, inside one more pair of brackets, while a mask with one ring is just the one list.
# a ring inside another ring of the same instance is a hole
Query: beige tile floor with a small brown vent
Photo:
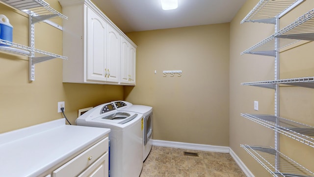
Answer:
[[[198, 157], [183, 155], [197, 152]], [[140, 177], [246, 177], [229, 153], [153, 146]]]

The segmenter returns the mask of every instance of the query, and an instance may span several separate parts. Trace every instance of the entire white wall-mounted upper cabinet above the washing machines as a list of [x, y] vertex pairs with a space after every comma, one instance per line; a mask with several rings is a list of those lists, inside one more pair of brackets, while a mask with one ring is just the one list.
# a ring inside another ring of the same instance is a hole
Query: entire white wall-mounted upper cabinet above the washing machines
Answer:
[[[59, 1], [69, 17], [63, 22], [63, 53], [68, 56], [63, 82], [135, 85], [136, 45], [90, 0]], [[123, 41], [128, 43], [126, 58]]]

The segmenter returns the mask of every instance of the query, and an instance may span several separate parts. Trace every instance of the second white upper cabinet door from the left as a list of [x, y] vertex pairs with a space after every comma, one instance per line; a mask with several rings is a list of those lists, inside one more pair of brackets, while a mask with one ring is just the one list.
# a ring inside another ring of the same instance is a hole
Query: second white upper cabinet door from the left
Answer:
[[107, 26], [107, 81], [119, 82], [120, 77], [120, 34]]

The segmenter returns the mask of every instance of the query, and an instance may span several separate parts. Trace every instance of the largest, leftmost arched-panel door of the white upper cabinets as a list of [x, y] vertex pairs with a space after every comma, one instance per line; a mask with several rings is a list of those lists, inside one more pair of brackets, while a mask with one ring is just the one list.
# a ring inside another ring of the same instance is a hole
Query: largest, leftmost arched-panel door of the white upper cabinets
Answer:
[[86, 80], [105, 81], [107, 24], [93, 10], [87, 8], [87, 75]]

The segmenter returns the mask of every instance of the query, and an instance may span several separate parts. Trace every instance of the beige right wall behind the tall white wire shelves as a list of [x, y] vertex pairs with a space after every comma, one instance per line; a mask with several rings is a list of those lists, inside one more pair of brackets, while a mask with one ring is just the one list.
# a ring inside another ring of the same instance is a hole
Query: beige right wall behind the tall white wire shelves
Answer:
[[[266, 177], [268, 172], [262, 168], [240, 144], [268, 145], [274, 147], [274, 132], [240, 113], [274, 114], [274, 91], [240, 83], [274, 79], [274, 58], [240, 53], [274, 33], [274, 25], [244, 23], [240, 21], [258, 3], [247, 0], [237, 13], [230, 26], [230, 147], [256, 177]], [[281, 19], [285, 27], [296, 18], [314, 7], [314, 1], [307, 0], [293, 12]], [[297, 48], [282, 50], [280, 53], [280, 79], [314, 75], [313, 42]], [[280, 88], [281, 117], [314, 125], [314, 90], [298, 87]], [[259, 101], [259, 111], [254, 111], [254, 100]], [[280, 150], [314, 171], [313, 148], [280, 136]], [[270, 175], [269, 175], [270, 176]]]

